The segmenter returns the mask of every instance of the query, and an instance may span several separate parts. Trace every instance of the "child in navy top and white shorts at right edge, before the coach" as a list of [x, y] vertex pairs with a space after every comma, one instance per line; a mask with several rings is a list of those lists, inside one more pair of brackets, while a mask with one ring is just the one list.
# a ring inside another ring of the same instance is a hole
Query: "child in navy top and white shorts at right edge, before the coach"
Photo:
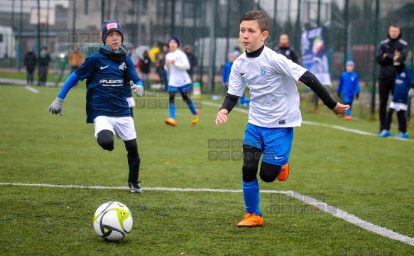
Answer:
[[393, 113], [397, 112], [398, 118], [398, 134], [396, 138], [408, 138], [407, 132], [407, 117], [406, 112], [408, 110], [408, 97], [414, 95], [414, 76], [411, 70], [407, 68], [402, 58], [396, 56], [394, 60], [394, 66], [396, 67], [397, 76], [396, 84], [394, 85], [393, 100], [391, 100], [390, 108], [386, 116], [386, 126], [378, 137], [391, 136], [391, 123], [393, 122]]

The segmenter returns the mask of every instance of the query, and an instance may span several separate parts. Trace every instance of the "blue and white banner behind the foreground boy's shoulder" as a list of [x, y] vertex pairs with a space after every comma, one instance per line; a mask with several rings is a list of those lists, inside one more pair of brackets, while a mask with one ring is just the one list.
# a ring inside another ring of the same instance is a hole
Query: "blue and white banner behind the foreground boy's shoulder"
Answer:
[[300, 42], [303, 68], [315, 74], [322, 85], [332, 86], [325, 48], [325, 27], [311, 28], [302, 33]]

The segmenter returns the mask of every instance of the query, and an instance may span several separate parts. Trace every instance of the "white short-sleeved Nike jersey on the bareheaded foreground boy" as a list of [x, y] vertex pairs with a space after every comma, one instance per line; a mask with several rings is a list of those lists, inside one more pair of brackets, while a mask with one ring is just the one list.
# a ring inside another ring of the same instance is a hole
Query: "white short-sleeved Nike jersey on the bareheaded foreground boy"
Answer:
[[305, 72], [305, 68], [265, 46], [258, 57], [248, 58], [243, 53], [234, 60], [227, 92], [240, 97], [249, 87], [251, 124], [267, 128], [298, 127], [302, 115], [295, 81]]

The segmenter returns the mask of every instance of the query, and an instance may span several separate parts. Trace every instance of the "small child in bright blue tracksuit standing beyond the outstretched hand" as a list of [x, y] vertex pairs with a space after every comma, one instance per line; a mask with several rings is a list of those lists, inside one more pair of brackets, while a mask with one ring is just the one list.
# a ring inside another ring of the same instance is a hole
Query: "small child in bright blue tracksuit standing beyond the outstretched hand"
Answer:
[[349, 109], [345, 112], [344, 119], [352, 120], [352, 102], [354, 102], [354, 97], [359, 98], [359, 77], [358, 74], [354, 72], [355, 63], [352, 60], [348, 60], [347, 71], [341, 74], [339, 78], [339, 84], [337, 89], [338, 97], [341, 97], [344, 101], [344, 105], [349, 105]]

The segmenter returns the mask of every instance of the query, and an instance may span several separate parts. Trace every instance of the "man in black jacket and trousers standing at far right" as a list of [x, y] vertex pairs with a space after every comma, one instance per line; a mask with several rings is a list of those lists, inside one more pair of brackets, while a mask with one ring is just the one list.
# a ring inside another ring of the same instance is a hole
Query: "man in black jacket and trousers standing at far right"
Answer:
[[388, 95], [390, 92], [393, 95], [396, 82], [397, 72], [393, 60], [398, 58], [404, 62], [407, 54], [408, 45], [401, 39], [401, 28], [391, 25], [388, 30], [388, 38], [381, 41], [376, 54], [376, 62], [380, 65], [378, 73], [379, 132], [385, 129]]

